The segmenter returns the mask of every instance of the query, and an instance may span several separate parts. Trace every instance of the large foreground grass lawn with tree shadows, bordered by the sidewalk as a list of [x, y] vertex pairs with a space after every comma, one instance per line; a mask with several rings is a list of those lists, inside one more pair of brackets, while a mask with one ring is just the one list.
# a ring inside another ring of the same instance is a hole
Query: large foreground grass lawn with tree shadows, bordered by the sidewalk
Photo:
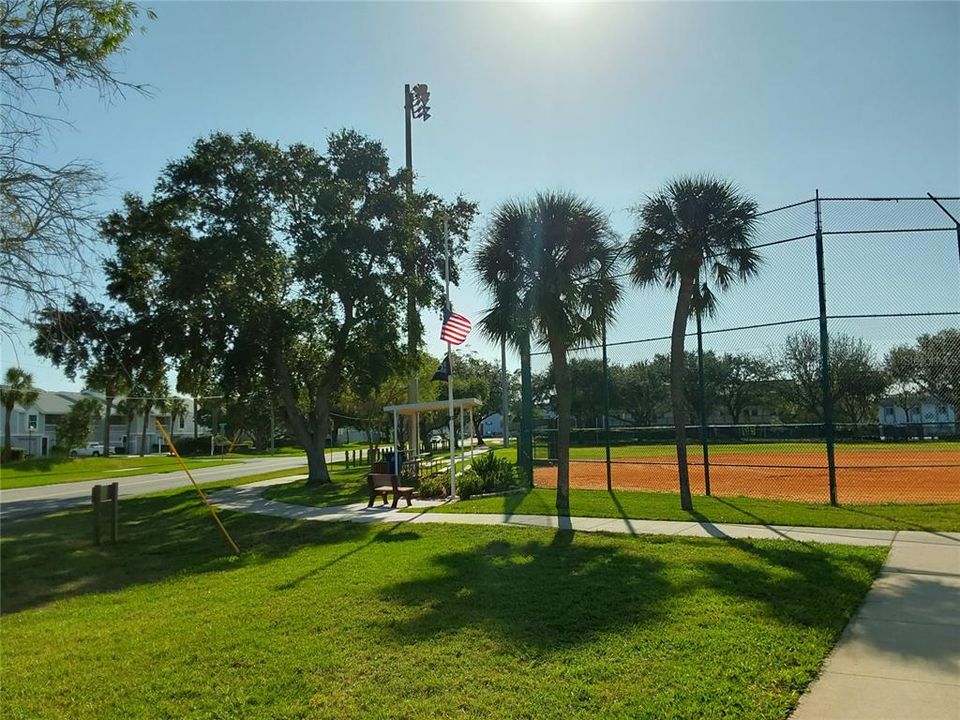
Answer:
[[[223, 483], [227, 485], [231, 483]], [[309, 523], [192, 490], [4, 523], [4, 718], [785, 718], [885, 550]]]

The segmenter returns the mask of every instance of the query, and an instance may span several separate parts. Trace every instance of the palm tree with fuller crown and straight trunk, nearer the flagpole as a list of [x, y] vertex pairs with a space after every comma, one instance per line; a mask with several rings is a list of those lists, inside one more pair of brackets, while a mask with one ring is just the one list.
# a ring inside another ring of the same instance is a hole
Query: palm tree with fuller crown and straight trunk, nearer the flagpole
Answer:
[[570, 510], [570, 372], [567, 351], [596, 340], [620, 300], [606, 216], [563, 192], [509, 201], [494, 212], [475, 260], [493, 305], [481, 328], [529, 354], [547, 346], [557, 391], [557, 510]]

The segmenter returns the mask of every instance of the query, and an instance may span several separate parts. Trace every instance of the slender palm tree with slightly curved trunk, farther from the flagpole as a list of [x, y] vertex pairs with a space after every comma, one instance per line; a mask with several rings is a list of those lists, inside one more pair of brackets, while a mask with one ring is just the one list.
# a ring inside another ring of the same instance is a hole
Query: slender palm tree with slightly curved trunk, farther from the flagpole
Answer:
[[677, 290], [670, 345], [670, 401], [680, 473], [680, 506], [693, 509], [687, 468], [683, 341], [692, 313], [713, 315], [716, 296], [756, 274], [760, 258], [750, 247], [757, 205], [731, 183], [716, 178], [671, 181], [636, 209], [638, 227], [627, 243], [638, 285]]

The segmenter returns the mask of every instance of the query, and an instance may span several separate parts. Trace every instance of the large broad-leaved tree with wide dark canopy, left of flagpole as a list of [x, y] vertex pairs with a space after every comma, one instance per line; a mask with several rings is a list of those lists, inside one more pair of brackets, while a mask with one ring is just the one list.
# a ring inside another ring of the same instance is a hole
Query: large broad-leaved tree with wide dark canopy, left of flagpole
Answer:
[[439, 308], [443, 217], [459, 256], [475, 213], [463, 198], [408, 193], [383, 146], [351, 130], [325, 154], [216, 133], [104, 222], [116, 248], [108, 289], [152, 319], [178, 389], [198, 373], [226, 395], [274, 387], [311, 481], [326, 482], [339, 391], [377, 386], [405, 362], [411, 239], [418, 302]]

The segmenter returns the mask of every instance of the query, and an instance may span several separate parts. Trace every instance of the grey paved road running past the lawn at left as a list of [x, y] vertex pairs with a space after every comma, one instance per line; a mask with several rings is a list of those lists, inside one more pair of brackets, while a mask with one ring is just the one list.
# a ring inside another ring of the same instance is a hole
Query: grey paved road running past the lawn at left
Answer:
[[[334, 454], [335, 460], [342, 460], [343, 453]], [[273, 470], [306, 467], [307, 459], [299, 457], [253, 458], [233, 465], [191, 469], [198, 483], [229, 480], [230, 478], [255, 475]], [[64, 508], [83, 505], [90, 502], [90, 488], [104, 482], [100, 480], [82, 480], [74, 483], [59, 483], [32, 488], [0, 490], [0, 520], [9, 520], [21, 515], [52, 512]], [[120, 496], [142, 495], [144, 493], [172, 490], [189, 485], [190, 481], [181, 471], [169, 473], [149, 473], [116, 478], [120, 483]]]

